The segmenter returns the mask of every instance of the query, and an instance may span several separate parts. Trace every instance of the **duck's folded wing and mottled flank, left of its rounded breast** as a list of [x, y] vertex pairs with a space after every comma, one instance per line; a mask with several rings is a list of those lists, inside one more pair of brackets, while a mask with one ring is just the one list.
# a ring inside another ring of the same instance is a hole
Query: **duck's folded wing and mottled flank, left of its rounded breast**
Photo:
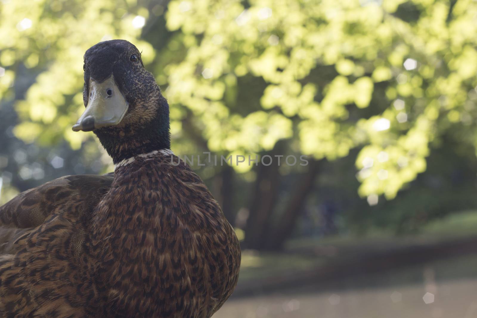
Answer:
[[112, 181], [65, 176], [0, 207], [1, 317], [86, 316], [79, 295], [96, 292], [84, 277], [92, 266], [85, 255], [88, 219]]

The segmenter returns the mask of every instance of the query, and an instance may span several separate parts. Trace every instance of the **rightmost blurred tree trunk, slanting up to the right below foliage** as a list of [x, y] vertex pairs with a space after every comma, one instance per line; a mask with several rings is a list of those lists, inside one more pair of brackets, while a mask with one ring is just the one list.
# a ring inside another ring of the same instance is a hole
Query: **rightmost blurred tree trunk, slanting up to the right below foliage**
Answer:
[[318, 175], [319, 162], [310, 160], [308, 172], [302, 174], [297, 182], [296, 191], [290, 198], [281, 215], [275, 231], [268, 236], [266, 249], [279, 250], [290, 237], [295, 225], [304, 209], [306, 199], [313, 190], [314, 181]]

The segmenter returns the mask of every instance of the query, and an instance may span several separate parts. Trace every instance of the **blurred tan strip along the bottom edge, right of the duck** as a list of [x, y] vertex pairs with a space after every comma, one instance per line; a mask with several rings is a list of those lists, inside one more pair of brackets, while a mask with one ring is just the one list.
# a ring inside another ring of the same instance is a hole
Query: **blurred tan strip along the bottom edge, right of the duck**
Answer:
[[[437, 285], [426, 304], [422, 285], [363, 288], [330, 293], [302, 293], [229, 300], [213, 318], [444, 318], [477, 317], [477, 279]], [[429, 295], [429, 294], [428, 294]]]

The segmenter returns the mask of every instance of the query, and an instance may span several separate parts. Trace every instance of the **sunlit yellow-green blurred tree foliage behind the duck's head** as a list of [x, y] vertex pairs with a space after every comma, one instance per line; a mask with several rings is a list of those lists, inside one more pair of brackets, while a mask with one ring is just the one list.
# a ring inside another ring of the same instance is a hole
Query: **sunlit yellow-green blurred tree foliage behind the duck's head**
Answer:
[[[83, 52], [122, 38], [143, 51], [169, 100], [177, 153], [194, 143], [184, 133], [191, 121], [221, 154], [254, 155], [280, 139], [316, 159], [359, 147], [359, 194], [373, 205], [425, 171], [448, 131], [475, 147], [475, 1], [172, 0], [168, 30], [151, 30], [147, 18], [163, 9], [2, 0], [0, 96], [18, 100], [15, 135], [46, 146], [65, 138], [76, 149], [91, 140], [71, 131], [83, 109]], [[154, 41], [165, 32], [166, 43]], [[39, 75], [14, 96], [21, 66]]]

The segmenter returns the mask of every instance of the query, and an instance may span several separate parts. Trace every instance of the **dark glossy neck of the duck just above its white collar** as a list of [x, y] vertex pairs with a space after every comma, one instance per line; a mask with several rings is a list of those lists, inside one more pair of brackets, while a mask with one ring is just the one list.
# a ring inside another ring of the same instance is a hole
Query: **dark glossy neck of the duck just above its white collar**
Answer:
[[171, 147], [168, 108], [167, 112], [158, 113], [149, 123], [122, 129], [98, 129], [94, 133], [114, 164]]

